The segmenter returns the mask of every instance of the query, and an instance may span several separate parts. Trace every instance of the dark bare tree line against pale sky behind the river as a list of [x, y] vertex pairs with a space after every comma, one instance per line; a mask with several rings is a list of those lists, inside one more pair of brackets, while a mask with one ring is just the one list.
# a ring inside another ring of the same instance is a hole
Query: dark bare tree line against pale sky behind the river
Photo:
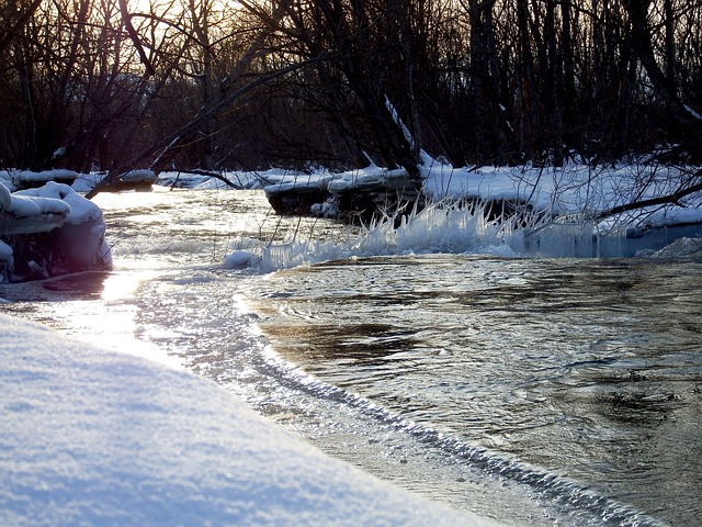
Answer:
[[0, 167], [702, 162], [700, 0], [4, 0]]

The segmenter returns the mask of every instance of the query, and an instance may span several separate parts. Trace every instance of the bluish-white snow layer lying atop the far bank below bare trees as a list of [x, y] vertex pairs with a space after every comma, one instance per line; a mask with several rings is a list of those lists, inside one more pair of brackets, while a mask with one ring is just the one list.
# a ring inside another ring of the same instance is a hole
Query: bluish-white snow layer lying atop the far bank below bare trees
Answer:
[[[528, 202], [551, 214], [595, 215], [623, 203], [646, 200], [672, 193], [681, 181], [690, 178], [694, 167], [661, 167], [656, 164], [630, 162], [613, 167], [590, 167], [570, 164], [558, 168], [521, 167], [463, 167], [441, 164], [422, 153], [420, 167], [424, 193], [434, 202], [461, 199], [518, 200]], [[269, 194], [288, 191], [344, 192], [384, 184], [395, 188], [406, 177], [405, 170], [377, 167], [346, 172], [316, 169], [294, 172], [271, 169], [263, 172], [227, 172], [231, 181], [245, 181], [246, 188], [259, 187]], [[222, 187], [216, 180], [201, 181], [197, 188]], [[316, 210], [321, 210], [321, 204]], [[665, 208], [666, 222], [675, 222], [683, 208]], [[633, 221], [650, 210], [637, 211], [616, 218], [619, 223]], [[672, 212], [672, 213], [671, 213]], [[702, 195], [691, 195], [684, 206], [684, 222], [702, 221]], [[680, 216], [681, 217], [681, 216]]]

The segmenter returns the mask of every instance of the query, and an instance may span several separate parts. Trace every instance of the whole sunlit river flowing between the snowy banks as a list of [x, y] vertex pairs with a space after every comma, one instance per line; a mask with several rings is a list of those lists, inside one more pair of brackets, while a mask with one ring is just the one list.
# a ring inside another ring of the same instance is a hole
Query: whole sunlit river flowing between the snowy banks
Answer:
[[115, 269], [0, 309], [213, 379], [328, 453], [508, 525], [699, 525], [702, 262], [482, 254], [224, 269], [346, 227], [259, 191], [100, 194]]

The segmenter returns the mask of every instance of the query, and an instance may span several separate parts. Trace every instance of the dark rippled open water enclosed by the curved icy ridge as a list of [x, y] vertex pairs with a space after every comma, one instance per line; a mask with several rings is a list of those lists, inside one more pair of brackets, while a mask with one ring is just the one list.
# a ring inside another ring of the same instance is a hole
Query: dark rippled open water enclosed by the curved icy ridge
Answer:
[[701, 271], [377, 258], [281, 272], [251, 298], [276, 351], [322, 381], [693, 525]]

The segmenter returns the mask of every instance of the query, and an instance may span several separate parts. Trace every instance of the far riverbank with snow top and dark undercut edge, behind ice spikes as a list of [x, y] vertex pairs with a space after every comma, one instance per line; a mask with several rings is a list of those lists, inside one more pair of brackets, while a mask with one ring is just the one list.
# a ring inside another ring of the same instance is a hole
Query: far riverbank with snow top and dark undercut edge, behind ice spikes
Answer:
[[[271, 169], [225, 172], [222, 178], [162, 172], [160, 181], [194, 189], [261, 188], [279, 214], [364, 225], [387, 215], [397, 226], [400, 216], [411, 221], [428, 204], [471, 214], [477, 205], [487, 220], [521, 228], [530, 237], [526, 254], [631, 257], [702, 236], [699, 170], [645, 158], [608, 166], [455, 168], [427, 157], [420, 193], [403, 170], [373, 165], [346, 172]], [[580, 243], [576, 251], [564, 249], [564, 231], [570, 237], [574, 229], [587, 247]], [[554, 238], [556, 247], [551, 247]]]

